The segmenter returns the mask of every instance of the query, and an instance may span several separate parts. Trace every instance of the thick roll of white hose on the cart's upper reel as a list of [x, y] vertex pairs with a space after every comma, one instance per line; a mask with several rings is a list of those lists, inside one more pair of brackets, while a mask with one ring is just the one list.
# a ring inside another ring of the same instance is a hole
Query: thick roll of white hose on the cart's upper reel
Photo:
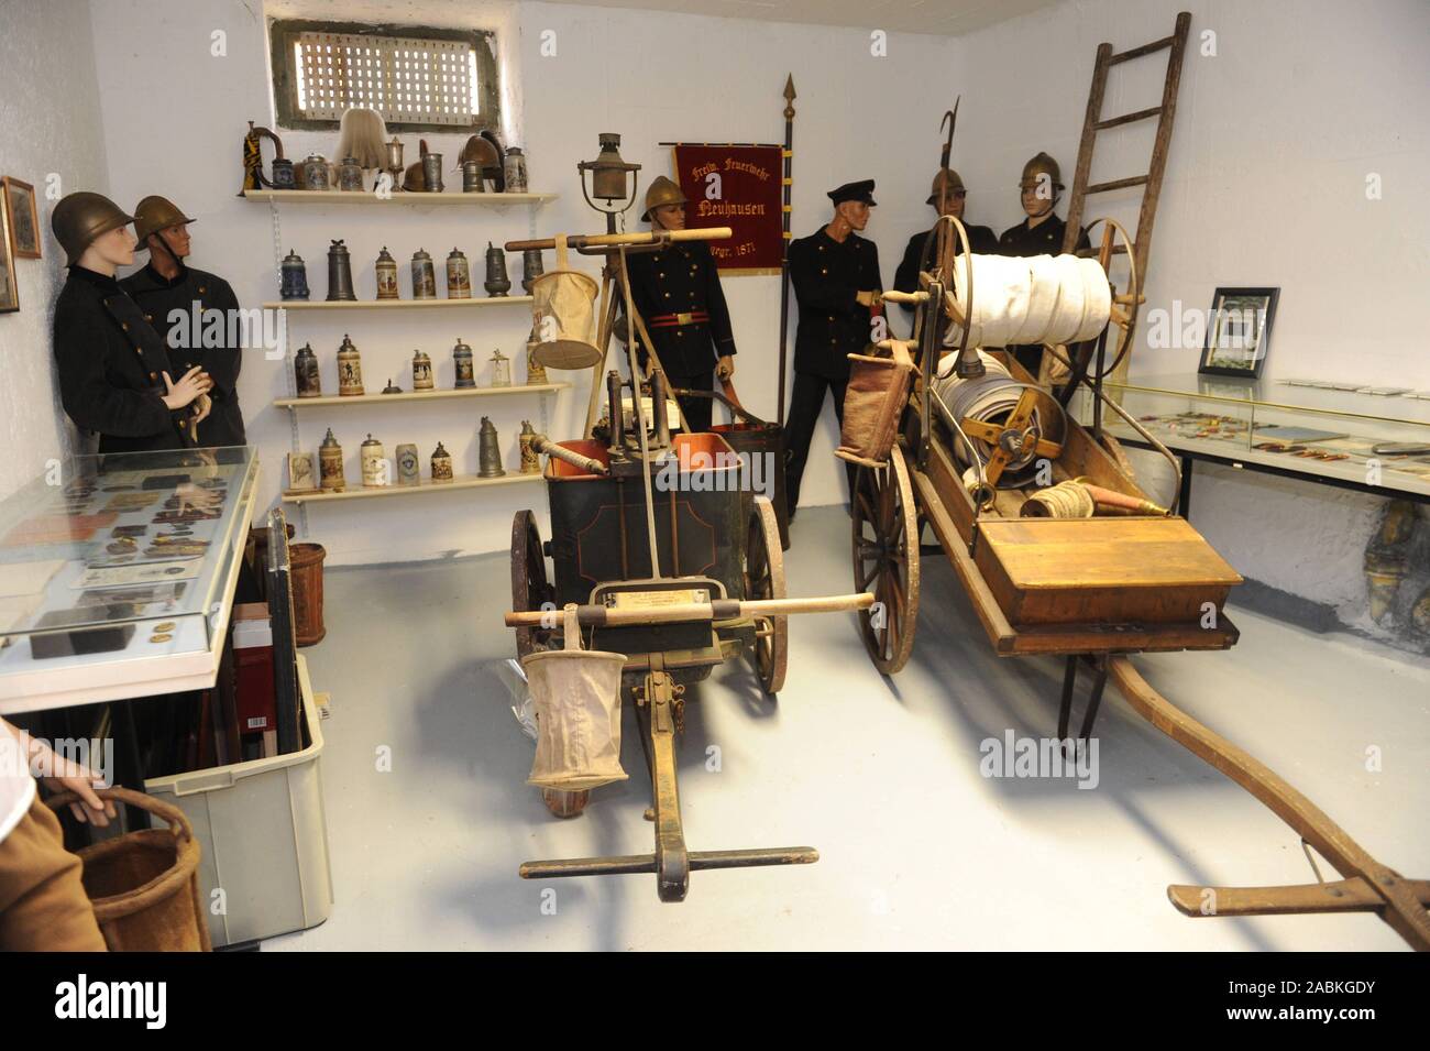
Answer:
[[[1113, 290], [1095, 259], [1077, 256], [958, 256], [954, 285], [968, 287], [972, 266], [974, 303], [958, 295], [968, 317], [971, 346], [1081, 343], [1093, 339], [1113, 313]], [[962, 326], [950, 325], [945, 346], [958, 346]]]

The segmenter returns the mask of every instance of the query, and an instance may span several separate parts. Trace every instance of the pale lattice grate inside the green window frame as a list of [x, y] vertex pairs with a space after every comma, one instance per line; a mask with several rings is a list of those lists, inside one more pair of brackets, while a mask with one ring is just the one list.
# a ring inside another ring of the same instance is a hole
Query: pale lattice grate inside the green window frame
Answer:
[[396, 124], [468, 127], [480, 114], [476, 50], [463, 40], [296, 33], [297, 113], [339, 120], [353, 106]]

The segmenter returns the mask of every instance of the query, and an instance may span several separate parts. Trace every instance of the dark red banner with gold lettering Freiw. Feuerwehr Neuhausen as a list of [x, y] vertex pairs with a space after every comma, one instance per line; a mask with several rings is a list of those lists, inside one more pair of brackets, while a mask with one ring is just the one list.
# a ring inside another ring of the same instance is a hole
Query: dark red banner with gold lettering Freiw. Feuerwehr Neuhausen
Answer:
[[729, 240], [709, 242], [721, 273], [779, 273], [782, 170], [779, 146], [675, 147], [675, 177], [691, 199], [685, 224], [735, 232]]

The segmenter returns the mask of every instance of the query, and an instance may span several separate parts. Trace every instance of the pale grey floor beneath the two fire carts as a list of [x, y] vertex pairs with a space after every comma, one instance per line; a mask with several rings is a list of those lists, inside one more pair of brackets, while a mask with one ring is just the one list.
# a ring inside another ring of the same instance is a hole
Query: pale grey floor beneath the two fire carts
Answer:
[[[849, 588], [842, 509], [801, 512], [794, 536], [791, 595]], [[696, 872], [678, 905], [656, 899], [654, 877], [518, 879], [525, 859], [649, 852], [652, 827], [629, 714], [631, 779], [582, 816], [549, 816], [523, 784], [533, 746], [495, 672], [512, 653], [508, 573], [505, 555], [327, 573], [327, 638], [306, 652], [333, 698], [322, 769], [336, 901], [326, 924], [265, 949], [1403, 948], [1370, 915], [1174, 911], [1168, 884], [1314, 875], [1281, 821], [1113, 688], [1095, 788], [982, 776], [984, 739], [1055, 732], [1061, 663], [994, 658], [942, 556], [924, 561], [897, 676], [875, 672], [851, 615], [827, 613], [791, 618], [776, 702], [744, 663], [692, 691], [679, 754], [691, 848], [812, 845], [818, 864]], [[1426, 662], [1233, 616], [1236, 649], [1138, 668], [1383, 862], [1430, 877]]]

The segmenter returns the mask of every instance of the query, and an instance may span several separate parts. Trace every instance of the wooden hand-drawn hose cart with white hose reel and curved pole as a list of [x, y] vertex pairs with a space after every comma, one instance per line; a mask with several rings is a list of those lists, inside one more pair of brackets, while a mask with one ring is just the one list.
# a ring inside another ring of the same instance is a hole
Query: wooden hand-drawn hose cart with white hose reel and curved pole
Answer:
[[[885, 296], [915, 306], [917, 342], [887, 342], [884, 355], [855, 360], [839, 450], [859, 465], [852, 559], [855, 589], [875, 596], [858, 615], [869, 656], [885, 673], [909, 658], [927, 525], [997, 655], [1064, 658], [1064, 748], [1080, 746], [1091, 734], [1111, 681], [1133, 711], [1251, 792], [1343, 877], [1300, 887], [1170, 887], [1177, 909], [1191, 917], [1374, 912], [1411, 947], [1430, 949], [1430, 881], [1406, 879], [1379, 862], [1283, 778], [1178, 711], [1131, 662], [1131, 653], [1234, 645], [1237, 629], [1223, 603], [1240, 576], [1174, 513], [1175, 503], [1158, 508], [1148, 499], [1101, 433], [1103, 412], [1117, 413], [1180, 478], [1175, 456], [1103, 392], [1103, 379], [1131, 346], [1141, 296], [1135, 269], [1125, 295], [1113, 289], [1114, 235], [1128, 257], [1133, 246], [1117, 223], [1098, 220], [1093, 227], [1098, 224], [1095, 265], [1072, 257], [1005, 260], [1022, 265], [1024, 275], [1031, 267], [1031, 282], [1022, 277], [1031, 287], [1020, 296], [1015, 287], [1010, 292], [1007, 275], [1000, 277], [998, 262], [985, 265], [991, 257], [971, 255], [957, 219], [941, 219], [924, 246], [919, 292]], [[955, 243], [962, 249], [957, 259]], [[1068, 323], [1062, 336], [1027, 339], [1030, 330], [1057, 327], [1030, 315], [1047, 312], [1051, 299], [1055, 320], [1078, 276], [1081, 292], [1072, 297], [1081, 300], [1084, 322], [1093, 297], [1101, 310], [1088, 326]], [[978, 279], [992, 285], [982, 292], [984, 303], [975, 299]], [[1048, 282], [1041, 300], [1040, 280]], [[987, 339], [992, 330], [1002, 336]], [[1111, 332], [1118, 333], [1117, 350], [1104, 367]], [[1012, 355], [980, 350], [980, 342], [1044, 342], [1068, 367], [1070, 385], [1091, 392], [1091, 428], [1075, 423], [1064, 402], [1037, 386]], [[1068, 724], [1080, 668], [1091, 668], [1093, 684], [1072, 741]]]

